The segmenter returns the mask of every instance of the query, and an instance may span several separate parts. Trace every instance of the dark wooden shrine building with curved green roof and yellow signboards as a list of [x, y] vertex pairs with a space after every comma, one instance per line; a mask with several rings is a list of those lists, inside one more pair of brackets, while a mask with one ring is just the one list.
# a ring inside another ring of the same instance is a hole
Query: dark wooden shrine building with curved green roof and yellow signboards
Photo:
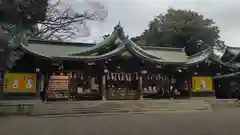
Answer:
[[139, 46], [120, 25], [96, 44], [28, 40], [18, 50], [4, 74], [4, 97], [39, 97], [44, 88], [48, 100], [161, 99], [174, 86], [177, 98], [231, 98], [238, 87], [240, 48], [210, 46], [187, 56], [182, 48]]

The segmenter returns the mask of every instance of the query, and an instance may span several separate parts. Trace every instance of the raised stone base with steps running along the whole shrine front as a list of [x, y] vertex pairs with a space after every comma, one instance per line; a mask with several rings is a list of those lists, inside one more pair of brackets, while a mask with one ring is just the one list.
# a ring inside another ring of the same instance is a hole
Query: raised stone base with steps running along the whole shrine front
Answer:
[[55, 101], [39, 100], [0, 101], [0, 114], [63, 115], [132, 113], [146, 111], [191, 111], [236, 107], [234, 100], [118, 100], [118, 101]]

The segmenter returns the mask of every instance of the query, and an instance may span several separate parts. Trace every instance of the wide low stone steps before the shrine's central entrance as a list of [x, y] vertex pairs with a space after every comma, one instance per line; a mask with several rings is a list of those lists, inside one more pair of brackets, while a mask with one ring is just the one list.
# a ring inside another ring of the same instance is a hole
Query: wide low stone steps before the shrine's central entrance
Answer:
[[[166, 110], [206, 110], [211, 105], [204, 100], [143, 100], [143, 101], [62, 101], [35, 103], [31, 115], [71, 114], [71, 113], [109, 113], [143, 112]], [[5, 110], [7, 110], [5, 108]]]

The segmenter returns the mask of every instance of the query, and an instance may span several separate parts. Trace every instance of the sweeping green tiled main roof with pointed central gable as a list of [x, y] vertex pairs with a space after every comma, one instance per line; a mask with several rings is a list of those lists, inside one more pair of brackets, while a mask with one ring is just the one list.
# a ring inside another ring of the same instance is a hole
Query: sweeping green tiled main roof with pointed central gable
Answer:
[[[121, 45], [116, 45], [115, 49], [105, 54], [96, 56], [86, 55], [97, 52], [103, 47], [116, 44], [115, 42]], [[21, 47], [28, 53], [49, 59], [83, 61], [107, 59], [119, 55], [124, 51], [129, 51], [137, 57], [157, 64], [194, 64], [208, 59], [211, 54], [210, 49], [206, 49], [188, 57], [184, 50], [180, 48], [140, 47], [128, 37], [124, 36], [122, 27], [119, 25], [114, 28], [113, 33], [109, 37], [97, 44], [30, 40], [27, 45], [22, 44]]]

